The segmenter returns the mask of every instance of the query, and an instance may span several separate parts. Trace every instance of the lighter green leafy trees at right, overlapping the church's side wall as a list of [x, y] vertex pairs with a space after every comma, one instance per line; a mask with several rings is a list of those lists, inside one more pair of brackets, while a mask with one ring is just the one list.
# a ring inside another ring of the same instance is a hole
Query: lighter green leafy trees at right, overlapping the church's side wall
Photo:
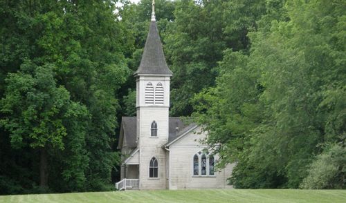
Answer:
[[345, 1], [266, 1], [249, 53], [194, 97], [238, 188], [345, 189]]

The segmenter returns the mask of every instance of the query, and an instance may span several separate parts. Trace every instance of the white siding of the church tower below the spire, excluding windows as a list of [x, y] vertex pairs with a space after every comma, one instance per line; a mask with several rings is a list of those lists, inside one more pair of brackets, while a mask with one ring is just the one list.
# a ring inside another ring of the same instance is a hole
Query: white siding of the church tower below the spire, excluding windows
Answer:
[[[145, 104], [145, 86], [151, 82], [156, 87], [160, 82], [164, 89], [163, 104]], [[170, 77], [140, 76], [137, 79], [137, 135], [140, 147], [140, 189], [166, 189], [166, 151], [161, 148], [168, 141], [168, 108], [170, 105]], [[157, 137], [150, 137], [150, 127], [157, 123]], [[149, 178], [149, 162], [158, 161], [158, 178]]]

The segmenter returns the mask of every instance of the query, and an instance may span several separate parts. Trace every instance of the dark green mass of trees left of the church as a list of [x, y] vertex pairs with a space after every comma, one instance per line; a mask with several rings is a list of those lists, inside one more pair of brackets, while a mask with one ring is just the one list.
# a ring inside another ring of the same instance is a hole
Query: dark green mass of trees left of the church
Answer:
[[0, 193], [110, 189], [131, 48], [114, 3], [0, 1]]

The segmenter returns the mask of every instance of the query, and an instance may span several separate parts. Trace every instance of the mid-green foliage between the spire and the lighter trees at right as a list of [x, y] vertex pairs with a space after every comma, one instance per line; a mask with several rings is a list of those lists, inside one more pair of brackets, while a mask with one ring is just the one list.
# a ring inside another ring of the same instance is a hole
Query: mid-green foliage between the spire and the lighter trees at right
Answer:
[[264, 1], [256, 0], [177, 2], [176, 20], [164, 40], [174, 72], [172, 115], [190, 115], [191, 97], [214, 86], [224, 50], [248, 50], [248, 30], [264, 11]]

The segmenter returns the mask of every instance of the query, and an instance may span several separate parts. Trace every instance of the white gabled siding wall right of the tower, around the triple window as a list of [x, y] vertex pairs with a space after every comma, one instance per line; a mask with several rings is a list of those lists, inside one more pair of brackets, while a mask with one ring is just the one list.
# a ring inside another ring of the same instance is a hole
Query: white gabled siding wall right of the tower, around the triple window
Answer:
[[[197, 128], [196, 131], [199, 131]], [[234, 164], [223, 170], [215, 171], [215, 177], [194, 177], [192, 158], [195, 153], [202, 151], [203, 146], [198, 142], [205, 134], [190, 132], [170, 146], [170, 189], [224, 189], [232, 188], [227, 185]], [[195, 141], [197, 140], [197, 141]], [[217, 159], [217, 157], [215, 157]]]

